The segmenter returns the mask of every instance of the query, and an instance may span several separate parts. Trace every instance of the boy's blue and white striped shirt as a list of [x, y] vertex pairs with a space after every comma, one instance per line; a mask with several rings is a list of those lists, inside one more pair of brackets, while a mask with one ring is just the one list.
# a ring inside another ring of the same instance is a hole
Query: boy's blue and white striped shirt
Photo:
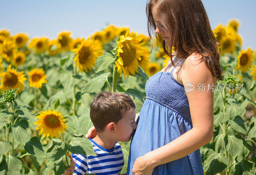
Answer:
[[[92, 139], [94, 152], [97, 156], [72, 154], [76, 163], [75, 175], [94, 173], [96, 175], [120, 174], [124, 166], [124, 154], [119, 143], [116, 142], [112, 149], [105, 149]], [[73, 175], [74, 175], [73, 174]]]

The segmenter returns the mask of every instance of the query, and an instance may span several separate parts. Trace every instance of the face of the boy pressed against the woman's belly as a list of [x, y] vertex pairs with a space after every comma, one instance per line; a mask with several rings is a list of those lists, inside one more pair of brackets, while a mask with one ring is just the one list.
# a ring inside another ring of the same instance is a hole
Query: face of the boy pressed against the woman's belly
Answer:
[[135, 122], [135, 109], [132, 108], [126, 112], [124, 117], [116, 124], [116, 139], [118, 141], [128, 142], [134, 135], [137, 123]]

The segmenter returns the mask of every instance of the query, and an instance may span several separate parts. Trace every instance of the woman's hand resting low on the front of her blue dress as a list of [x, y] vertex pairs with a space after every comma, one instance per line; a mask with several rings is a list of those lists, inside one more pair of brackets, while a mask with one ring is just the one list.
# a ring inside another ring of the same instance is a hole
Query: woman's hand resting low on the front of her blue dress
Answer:
[[132, 174], [135, 175], [152, 175], [155, 166], [152, 164], [151, 157], [147, 154], [138, 157], [132, 168]]

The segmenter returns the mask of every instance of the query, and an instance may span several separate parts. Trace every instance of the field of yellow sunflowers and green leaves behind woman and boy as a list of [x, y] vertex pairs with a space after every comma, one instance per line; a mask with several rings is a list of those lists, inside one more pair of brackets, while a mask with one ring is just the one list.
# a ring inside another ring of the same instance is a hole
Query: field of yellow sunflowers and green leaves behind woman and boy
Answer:
[[[241, 49], [238, 20], [218, 25], [223, 81], [214, 90], [214, 133], [200, 148], [205, 174], [256, 174], [255, 51]], [[94, 155], [85, 134], [100, 91], [132, 97], [136, 112], [148, 77], [168, 61], [148, 36], [108, 25], [88, 38], [55, 39], [0, 30], [0, 174], [62, 174], [71, 153]], [[173, 51], [175, 48], [172, 48]], [[130, 142], [120, 142], [127, 169]]]

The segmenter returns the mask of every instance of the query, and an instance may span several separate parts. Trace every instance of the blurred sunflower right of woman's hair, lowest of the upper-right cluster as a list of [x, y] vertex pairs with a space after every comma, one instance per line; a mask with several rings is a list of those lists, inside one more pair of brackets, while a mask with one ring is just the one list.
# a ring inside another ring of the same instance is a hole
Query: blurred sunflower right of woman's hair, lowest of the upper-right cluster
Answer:
[[236, 49], [236, 40], [234, 36], [228, 35], [225, 36], [222, 42], [220, 43], [221, 55], [224, 53], [233, 54]]

